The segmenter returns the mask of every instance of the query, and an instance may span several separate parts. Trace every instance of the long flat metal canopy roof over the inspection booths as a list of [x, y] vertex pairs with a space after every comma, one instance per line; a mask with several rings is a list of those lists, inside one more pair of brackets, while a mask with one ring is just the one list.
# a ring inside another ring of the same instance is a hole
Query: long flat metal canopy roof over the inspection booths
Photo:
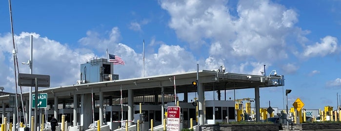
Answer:
[[[127, 90], [133, 89], [134, 96], [160, 94], [164, 87], [165, 94], [174, 94], [174, 76], [177, 93], [195, 92], [196, 87], [192, 81], [197, 79], [197, 71], [166, 74], [133, 79], [122, 79], [97, 83], [86, 83], [80, 85], [60, 86], [40, 89], [39, 93], [47, 93], [48, 101], [53, 103], [54, 97], [58, 96], [59, 103], [73, 103], [74, 94], [85, 94], [103, 92], [104, 97], [119, 98], [120, 88], [123, 97], [127, 97]], [[241, 89], [253, 87], [274, 87], [284, 85], [284, 76], [261, 76], [237, 74], [228, 72], [217, 72], [210, 70], [199, 70], [199, 83], [203, 83], [204, 90]], [[29, 98], [29, 92], [22, 94], [25, 99]], [[104, 98], [104, 99], [105, 99]], [[0, 101], [8, 103], [8, 96], [0, 96]]]

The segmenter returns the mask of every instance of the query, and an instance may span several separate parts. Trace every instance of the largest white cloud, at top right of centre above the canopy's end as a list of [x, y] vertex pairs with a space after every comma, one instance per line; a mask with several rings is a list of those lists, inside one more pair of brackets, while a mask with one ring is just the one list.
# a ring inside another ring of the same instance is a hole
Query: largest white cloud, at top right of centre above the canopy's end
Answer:
[[236, 15], [225, 0], [161, 0], [160, 5], [171, 16], [169, 27], [191, 47], [211, 42], [213, 63], [286, 59], [286, 37], [302, 33], [295, 27], [298, 14], [269, 0], [241, 0]]

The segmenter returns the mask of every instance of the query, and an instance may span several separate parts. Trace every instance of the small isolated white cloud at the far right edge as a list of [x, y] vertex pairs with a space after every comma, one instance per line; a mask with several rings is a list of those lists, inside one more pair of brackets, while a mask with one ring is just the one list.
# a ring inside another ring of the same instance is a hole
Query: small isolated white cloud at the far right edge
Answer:
[[302, 53], [303, 57], [325, 56], [328, 54], [337, 53], [340, 50], [338, 39], [331, 36], [326, 36], [321, 39], [321, 43], [307, 45]]

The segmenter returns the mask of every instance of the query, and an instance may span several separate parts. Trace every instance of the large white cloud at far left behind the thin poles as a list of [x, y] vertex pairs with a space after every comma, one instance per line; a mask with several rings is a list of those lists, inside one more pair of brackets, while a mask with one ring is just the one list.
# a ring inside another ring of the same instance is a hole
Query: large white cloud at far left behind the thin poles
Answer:
[[[66, 44], [60, 44], [47, 37], [40, 37], [36, 33], [22, 32], [15, 35], [16, 48], [19, 50], [18, 63], [27, 62], [30, 57], [30, 35], [33, 35], [33, 74], [50, 75], [51, 87], [75, 84], [79, 79], [80, 63], [94, 56], [92, 53], [81, 53], [70, 49]], [[1, 85], [6, 86], [5, 91], [15, 92], [14, 67], [12, 65], [11, 35], [0, 36], [3, 42], [0, 48]], [[7, 65], [8, 64], [8, 65]], [[19, 65], [20, 73], [29, 73], [27, 65]], [[18, 71], [17, 71], [18, 73]], [[6, 74], [6, 75], [5, 75]], [[24, 88], [27, 91], [27, 88]]]

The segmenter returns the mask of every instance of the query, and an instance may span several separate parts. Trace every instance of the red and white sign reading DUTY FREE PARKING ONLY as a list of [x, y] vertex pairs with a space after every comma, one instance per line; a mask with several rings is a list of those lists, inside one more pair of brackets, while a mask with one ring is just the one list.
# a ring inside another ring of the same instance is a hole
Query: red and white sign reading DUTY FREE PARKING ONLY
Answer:
[[167, 131], [180, 131], [180, 107], [167, 107]]

